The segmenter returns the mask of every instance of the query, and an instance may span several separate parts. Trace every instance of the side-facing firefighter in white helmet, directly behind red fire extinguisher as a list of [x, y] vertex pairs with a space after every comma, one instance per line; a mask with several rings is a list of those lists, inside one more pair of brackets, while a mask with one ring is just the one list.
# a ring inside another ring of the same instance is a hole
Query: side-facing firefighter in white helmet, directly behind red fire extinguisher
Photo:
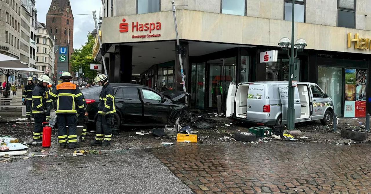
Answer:
[[32, 90], [32, 115], [35, 119], [35, 127], [33, 129], [33, 141], [42, 141], [42, 123], [45, 120], [46, 114], [46, 93], [45, 87], [49, 84], [50, 78], [47, 75], [40, 75], [37, 78], [37, 84]]

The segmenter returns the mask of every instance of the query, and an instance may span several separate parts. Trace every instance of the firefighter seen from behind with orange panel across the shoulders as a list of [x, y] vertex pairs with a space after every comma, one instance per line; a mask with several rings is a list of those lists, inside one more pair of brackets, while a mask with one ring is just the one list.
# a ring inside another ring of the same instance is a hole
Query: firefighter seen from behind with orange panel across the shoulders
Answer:
[[[63, 72], [59, 79], [62, 79], [62, 83], [50, 92], [52, 100], [58, 98], [55, 114], [57, 115], [59, 145], [65, 148], [68, 142], [69, 149], [79, 148], [76, 136], [76, 114], [78, 113], [76, 105], [79, 113], [85, 112], [83, 95], [75, 84], [70, 83], [72, 75], [69, 72]], [[66, 126], [68, 126], [68, 135]]]

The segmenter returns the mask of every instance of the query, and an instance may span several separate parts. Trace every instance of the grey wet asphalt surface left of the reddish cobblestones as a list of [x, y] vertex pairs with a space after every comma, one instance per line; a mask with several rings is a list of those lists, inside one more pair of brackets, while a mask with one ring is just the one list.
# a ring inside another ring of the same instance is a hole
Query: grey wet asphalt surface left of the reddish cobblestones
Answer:
[[193, 193], [152, 154], [139, 150], [20, 159], [0, 163], [0, 169], [1, 194]]

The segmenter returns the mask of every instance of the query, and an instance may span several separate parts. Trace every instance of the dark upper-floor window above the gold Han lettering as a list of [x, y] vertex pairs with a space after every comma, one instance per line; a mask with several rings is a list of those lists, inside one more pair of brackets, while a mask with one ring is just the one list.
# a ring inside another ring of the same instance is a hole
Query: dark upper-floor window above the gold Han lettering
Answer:
[[355, 28], [355, 0], [338, 0], [338, 27]]

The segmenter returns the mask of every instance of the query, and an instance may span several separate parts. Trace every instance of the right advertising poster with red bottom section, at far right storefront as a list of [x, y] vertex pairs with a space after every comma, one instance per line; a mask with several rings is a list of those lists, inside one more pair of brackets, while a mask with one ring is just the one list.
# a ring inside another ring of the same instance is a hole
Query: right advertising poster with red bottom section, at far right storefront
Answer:
[[356, 69], [355, 71], [355, 117], [366, 116], [366, 82], [367, 82], [367, 70]]

